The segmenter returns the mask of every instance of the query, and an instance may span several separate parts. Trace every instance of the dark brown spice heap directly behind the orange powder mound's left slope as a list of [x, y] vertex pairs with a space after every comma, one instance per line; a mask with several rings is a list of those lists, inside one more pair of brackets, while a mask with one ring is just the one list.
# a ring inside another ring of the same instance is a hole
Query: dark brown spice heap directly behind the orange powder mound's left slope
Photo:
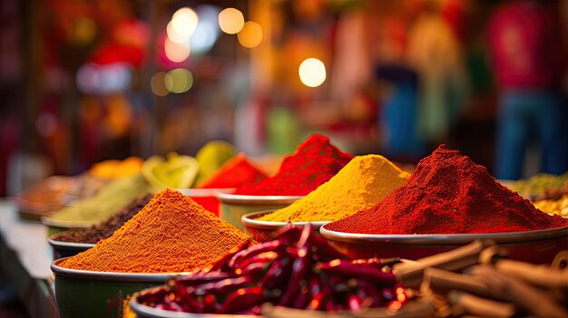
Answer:
[[110, 217], [103, 223], [91, 227], [75, 228], [69, 231], [57, 233], [52, 236], [52, 239], [62, 242], [95, 244], [104, 238], [112, 236], [114, 231], [121, 228], [126, 221], [142, 210], [142, 207], [146, 206], [146, 204], [150, 202], [151, 198], [151, 194], [141, 198], [136, 198], [128, 206], [123, 207], [120, 211], [114, 213], [113, 217]]

